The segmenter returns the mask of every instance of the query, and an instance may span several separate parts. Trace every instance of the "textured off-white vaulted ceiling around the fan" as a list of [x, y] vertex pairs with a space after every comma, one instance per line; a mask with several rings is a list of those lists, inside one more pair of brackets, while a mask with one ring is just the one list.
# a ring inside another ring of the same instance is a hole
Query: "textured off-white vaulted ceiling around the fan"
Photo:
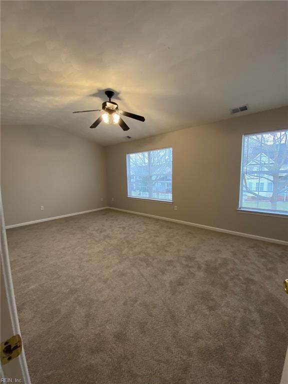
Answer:
[[[287, 104], [285, 1], [1, 1], [1, 122], [107, 145]], [[89, 125], [103, 89], [131, 129]]]

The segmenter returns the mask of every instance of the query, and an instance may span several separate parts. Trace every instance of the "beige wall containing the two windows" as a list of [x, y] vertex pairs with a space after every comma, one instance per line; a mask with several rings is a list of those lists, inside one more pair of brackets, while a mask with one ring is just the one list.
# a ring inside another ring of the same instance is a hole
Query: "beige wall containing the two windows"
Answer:
[[[287, 114], [283, 107], [106, 147], [108, 205], [288, 240], [288, 218], [237, 211], [242, 134], [287, 128]], [[126, 153], [165, 146], [173, 148], [176, 211], [126, 197]]]

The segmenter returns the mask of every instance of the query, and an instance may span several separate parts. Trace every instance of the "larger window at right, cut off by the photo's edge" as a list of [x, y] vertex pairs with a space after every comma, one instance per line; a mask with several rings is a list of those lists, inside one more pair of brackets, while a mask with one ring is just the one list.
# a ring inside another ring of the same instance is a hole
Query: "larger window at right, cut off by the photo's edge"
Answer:
[[288, 130], [243, 135], [239, 209], [288, 214]]

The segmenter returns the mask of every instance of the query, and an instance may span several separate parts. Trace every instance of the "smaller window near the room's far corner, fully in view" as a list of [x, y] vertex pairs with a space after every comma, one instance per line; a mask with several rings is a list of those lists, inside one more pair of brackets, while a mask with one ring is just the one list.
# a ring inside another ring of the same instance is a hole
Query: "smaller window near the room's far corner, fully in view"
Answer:
[[128, 153], [128, 197], [172, 201], [172, 148]]

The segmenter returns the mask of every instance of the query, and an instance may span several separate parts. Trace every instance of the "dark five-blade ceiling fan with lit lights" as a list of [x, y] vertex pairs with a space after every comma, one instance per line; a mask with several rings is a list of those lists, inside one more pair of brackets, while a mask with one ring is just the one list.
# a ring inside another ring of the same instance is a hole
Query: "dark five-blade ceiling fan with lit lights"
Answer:
[[102, 109], [76, 110], [73, 113], [101, 111], [102, 114], [97, 118], [96, 121], [93, 122], [90, 128], [95, 128], [100, 124], [101, 121], [103, 121], [106, 124], [119, 124], [123, 130], [130, 129], [125, 121], [120, 117], [120, 115], [131, 117], [139, 121], [145, 121], [145, 117], [143, 116], [118, 109], [118, 104], [114, 101], [111, 101], [111, 98], [114, 95], [112, 90], [106, 90], [105, 95], [108, 97], [109, 101], [104, 101], [102, 103]]

